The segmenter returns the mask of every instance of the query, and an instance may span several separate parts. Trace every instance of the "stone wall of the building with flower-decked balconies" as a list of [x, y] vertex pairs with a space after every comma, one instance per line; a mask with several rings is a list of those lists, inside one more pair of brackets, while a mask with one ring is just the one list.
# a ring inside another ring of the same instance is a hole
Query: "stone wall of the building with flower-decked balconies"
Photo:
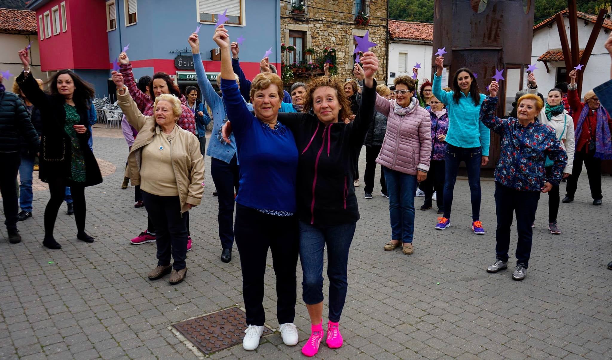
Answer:
[[[355, 24], [356, 2], [353, 0], [303, 0], [304, 14], [291, 12], [289, 2], [280, 2], [281, 41], [289, 43], [289, 31], [305, 32], [305, 48], [323, 51], [326, 46], [336, 49], [337, 70], [343, 78], [353, 78], [353, 35], [363, 36], [370, 31], [370, 41], [378, 44], [372, 51], [379, 60], [375, 78], [379, 83], [386, 79], [387, 0], [365, 1], [370, 23]], [[296, 78], [299, 73], [296, 73]], [[296, 79], [297, 80], [297, 79]]]

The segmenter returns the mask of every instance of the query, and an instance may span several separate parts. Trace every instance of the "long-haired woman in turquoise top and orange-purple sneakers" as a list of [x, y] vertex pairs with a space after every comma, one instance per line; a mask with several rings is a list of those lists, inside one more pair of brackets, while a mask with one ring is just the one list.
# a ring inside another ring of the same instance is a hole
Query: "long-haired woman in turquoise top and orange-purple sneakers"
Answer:
[[[489, 162], [491, 132], [478, 121], [480, 103], [485, 95], [478, 91], [478, 83], [469, 68], [460, 68], [453, 77], [453, 90], [442, 90], [442, 66], [444, 57], [436, 58], [437, 72], [433, 78], [433, 95], [446, 104], [449, 114], [449, 131], [446, 134], [447, 149], [444, 155], [446, 174], [444, 179], [444, 215], [438, 218], [437, 230], [450, 226], [450, 208], [453, 188], [457, 181], [459, 163], [465, 161], [472, 200], [472, 231], [483, 235], [480, 222], [480, 166]], [[446, 84], [445, 84], [446, 85]], [[439, 195], [438, 195], [439, 196]]]

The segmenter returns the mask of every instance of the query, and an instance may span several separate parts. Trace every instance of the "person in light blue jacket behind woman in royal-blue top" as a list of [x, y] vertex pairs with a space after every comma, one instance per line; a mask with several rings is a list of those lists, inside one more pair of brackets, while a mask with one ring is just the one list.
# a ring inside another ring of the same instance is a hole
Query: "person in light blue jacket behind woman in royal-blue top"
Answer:
[[[212, 110], [212, 135], [211, 141], [206, 149], [206, 155], [211, 156], [211, 176], [217, 189], [219, 210], [217, 219], [219, 222], [219, 238], [223, 248], [221, 253], [222, 262], [231, 261], [231, 249], [234, 245], [234, 230], [232, 222], [234, 219], [234, 194], [238, 191], [239, 161], [236, 157], [236, 142], [226, 142], [220, 134], [221, 127], [227, 121], [225, 104], [221, 97], [212, 87], [204, 72], [204, 64], [200, 56], [200, 39], [198, 34], [193, 33], [189, 37], [189, 45], [192, 47], [193, 67], [198, 76], [198, 86], [202, 90], [204, 100]], [[235, 81], [238, 81], [237, 76]], [[218, 82], [217, 82], [218, 83]], [[242, 100], [244, 102], [244, 100]], [[247, 104], [247, 106], [251, 106]], [[252, 108], [250, 108], [252, 109]]]

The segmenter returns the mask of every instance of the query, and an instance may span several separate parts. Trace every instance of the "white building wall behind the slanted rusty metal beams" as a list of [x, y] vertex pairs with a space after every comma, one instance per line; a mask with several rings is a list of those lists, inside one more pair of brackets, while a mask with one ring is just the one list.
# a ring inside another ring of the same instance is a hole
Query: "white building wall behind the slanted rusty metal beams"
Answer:
[[[569, 20], [564, 18], [565, 21], [565, 32], [567, 32], [567, 39], [570, 38]], [[545, 26], [534, 32], [534, 38], [532, 43], [531, 53], [531, 64], [536, 64], [537, 59], [542, 56], [548, 50], [560, 49], [561, 40], [559, 40], [559, 31], [557, 30], [556, 23], [552, 23], [553, 26], [549, 28]], [[593, 24], [589, 23], [584, 26], [584, 20], [578, 19], [578, 43], [580, 48], [583, 49], [591, 36]], [[589, 58], [587, 67], [584, 68], [584, 78], [582, 86], [582, 94], [584, 95], [590, 89], [604, 83], [610, 79], [610, 54], [606, 51], [603, 44], [608, 39], [608, 34], [605, 34], [602, 30], [599, 32], [597, 42]], [[571, 45], [570, 45], [571, 46]], [[546, 67], [543, 62], [537, 62], [538, 70], [535, 70], [535, 77], [537, 79], [539, 90], [542, 94], [546, 95], [548, 90], [554, 87], [554, 84], [565, 79], [557, 79], [557, 68], [564, 68], [564, 62], [551, 62], [548, 64], [550, 73], [546, 72]]]

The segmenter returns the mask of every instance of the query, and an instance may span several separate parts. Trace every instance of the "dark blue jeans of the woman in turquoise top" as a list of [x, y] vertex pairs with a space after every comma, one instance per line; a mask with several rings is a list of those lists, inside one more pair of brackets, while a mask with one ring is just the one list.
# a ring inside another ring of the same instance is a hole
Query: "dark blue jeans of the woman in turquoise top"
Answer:
[[457, 181], [459, 163], [465, 161], [468, 171], [469, 195], [472, 200], [472, 221], [480, 219], [480, 147], [457, 147], [448, 144], [446, 147], [446, 179], [444, 180], [444, 217], [450, 219], [450, 208], [453, 205], [453, 189]]

